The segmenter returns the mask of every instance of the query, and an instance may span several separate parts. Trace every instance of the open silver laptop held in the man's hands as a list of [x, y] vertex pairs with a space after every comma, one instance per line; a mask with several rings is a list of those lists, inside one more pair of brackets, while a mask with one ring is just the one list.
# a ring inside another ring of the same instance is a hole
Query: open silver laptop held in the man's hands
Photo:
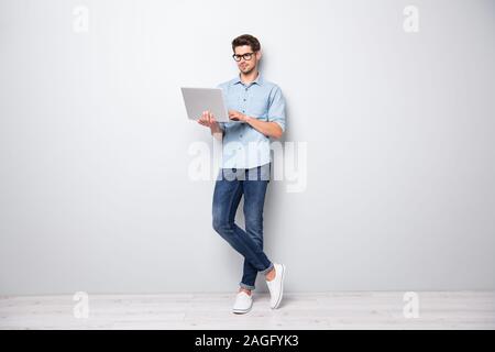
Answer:
[[184, 105], [190, 120], [199, 120], [202, 111], [210, 111], [218, 122], [239, 122], [229, 119], [221, 88], [182, 87]]

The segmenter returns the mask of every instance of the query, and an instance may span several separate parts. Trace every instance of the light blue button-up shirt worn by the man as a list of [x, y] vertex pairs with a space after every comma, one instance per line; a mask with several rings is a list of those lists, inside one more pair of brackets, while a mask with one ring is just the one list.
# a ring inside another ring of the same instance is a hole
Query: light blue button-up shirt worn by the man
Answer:
[[[223, 91], [229, 110], [261, 121], [276, 122], [285, 131], [285, 99], [280, 88], [258, 73], [245, 85], [240, 74], [217, 86]], [[219, 122], [223, 131], [222, 168], [252, 168], [270, 163], [270, 138], [244, 122]]]

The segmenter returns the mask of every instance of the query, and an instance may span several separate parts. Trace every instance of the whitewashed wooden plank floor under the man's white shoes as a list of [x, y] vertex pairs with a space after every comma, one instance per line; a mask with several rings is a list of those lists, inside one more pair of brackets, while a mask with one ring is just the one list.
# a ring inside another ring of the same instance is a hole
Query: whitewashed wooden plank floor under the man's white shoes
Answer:
[[494, 292], [420, 292], [406, 318], [404, 293], [287, 293], [277, 310], [255, 293], [233, 315], [234, 293], [91, 295], [76, 318], [72, 295], [0, 296], [0, 329], [495, 329]]

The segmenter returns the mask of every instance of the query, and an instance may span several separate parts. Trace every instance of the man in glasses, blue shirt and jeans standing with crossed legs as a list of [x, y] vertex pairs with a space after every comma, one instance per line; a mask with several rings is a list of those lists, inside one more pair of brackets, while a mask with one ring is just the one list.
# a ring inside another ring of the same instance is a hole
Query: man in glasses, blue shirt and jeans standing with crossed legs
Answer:
[[[232, 50], [239, 76], [218, 86], [232, 122], [217, 122], [209, 111], [204, 111], [198, 122], [222, 140], [222, 167], [213, 191], [213, 229], [244, 256], [233, 306], [233, 312], [244, 314], [253, 305], [258, 272], [265, 275], [271, 308], [278, 308], [283, 296], [285, 265], [273, 263], [263, 252], [263, 206], [272, 162], [270, 139], [279, 139], [285, 131], [285, 99], [280, 88], [258, 72], [262, 54], [254, 36], [238, 36]], [[242, 196], [245, 231], [234, 223]]]

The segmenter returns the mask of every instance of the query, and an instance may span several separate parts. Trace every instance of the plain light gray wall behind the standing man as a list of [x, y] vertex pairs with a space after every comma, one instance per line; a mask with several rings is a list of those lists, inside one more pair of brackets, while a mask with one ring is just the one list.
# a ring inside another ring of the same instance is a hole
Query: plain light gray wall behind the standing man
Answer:
[[308, 147], [306, 189], [265, 205], [286, 289], [495, 289], [494, 20], [480, 0], [1, 0], [0, 294], [237, 288], [179, 87], [231, 79], [243, 33]]

